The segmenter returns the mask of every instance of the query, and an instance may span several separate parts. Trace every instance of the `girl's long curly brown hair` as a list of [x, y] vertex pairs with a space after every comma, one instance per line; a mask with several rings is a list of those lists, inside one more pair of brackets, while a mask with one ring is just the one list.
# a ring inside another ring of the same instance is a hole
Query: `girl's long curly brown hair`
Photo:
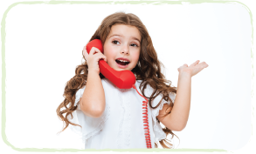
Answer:
[[[141, 34], [141, 52], [138, 63], [135, 68], [131, 70], [136, 77], [136, 80], [142, 80], [139, 88], [142, 91], [142, 95], [144, 97], [144, 90], [147, 88], [148, 84], [154, 89], [154, 92], [150, 97], [147, 97], [149, 100], [149, 106], [153, 109], [156, 109], [163, 99], [165, 101], [170, 102], [169, 108], [173, 107], [173, 101], [170, 99], [170, 92], [176, 94], [176, 87], [170, 86], [171, 81], [165, 79], [161, 67], [164, 68], [163, 64], [158, 60], [156, 50], [152, 44], [151, 37], [149, 37], [149, 32], [146, 29], [145, 25], [142, 23], [139, 17], [135, 16], [132, 13], [124, 13], [124, 12], [116, 12], [108, 17], [106, 17], [100, 24], [99, 28], [93, 34], [90, 41], [93, 39], [100, 39], [102, 44], [105, 44], [107, 39], [107, 35], [109, 34], [111, 27], [114, 24], [125, 24], [130, 26], [135, 26]], [[85, 57], [83, 57], [85, 59]], [[75, 69], [75, 76], [71, 78], [65, 87], [65, 91], [63, 96], [65, 97], [64, 101], [59, 104], [57, 111], [58, 117], [64, 122], [66, 125], [62, 131], [65, 131], [69, 124], [73, 124], [68, 121], [67, 117], [70, 115], [73, 118], [72, 112], [77, 109], [77, 106], [74, 106], [75, 103], [75, 94], [80, 88], [86, 85], [86, 80], [88, 76], [88, 65], [86, 61], [80, 65], [78, 65]], [[100, 73], [100, 78], [104, 78], [104, 76]], [[163, 97], [159, 104], [156, 106], [152, 106], [152, 100], [155, 99], [158, 95], [163, 94]], [[61, 108], [65, 108], [65, 110], [61, 110]], [[167, 109], [168, 110], [168, 109]], [[66, 116], [64, 116], [66, 114]], [[167, 116], [167, 113], [164, 116]], [[160, 121], [157, 119], [157, 122]], [[79, 124], [73, 124], [80, 126]], [[167, 136], [170, 134], [173, 138], [174, 133], [168, 129], [167, 127], [163, 128], [163, 131], [166, 134], [166, 138], [159, 141], [159, 143], [163, 146], [163, 148], [173, 148], [173, 145], [170, 144], [167, 139]], [[176, 136], [176, 135], [175, 135]], [[155, 147], [157, 148], [158, 143], [155, 143]]]

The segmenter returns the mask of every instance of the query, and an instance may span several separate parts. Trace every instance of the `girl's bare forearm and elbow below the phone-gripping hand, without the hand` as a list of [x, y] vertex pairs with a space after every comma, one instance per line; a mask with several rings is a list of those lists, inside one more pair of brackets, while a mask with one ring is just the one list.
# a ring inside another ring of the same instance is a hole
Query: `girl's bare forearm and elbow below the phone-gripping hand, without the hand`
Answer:
[[97, 71], [89, 70], [80, 109], [88, 117], [100, 117], [105, 110], [105, 93]]

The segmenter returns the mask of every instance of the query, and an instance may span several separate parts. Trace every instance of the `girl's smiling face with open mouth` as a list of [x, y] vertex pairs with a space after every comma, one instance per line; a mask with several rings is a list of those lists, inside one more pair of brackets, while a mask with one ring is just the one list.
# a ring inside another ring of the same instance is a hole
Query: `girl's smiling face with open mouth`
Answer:
[[104, 44], [107, 64], [114, 70], [133, 70], [140, 57], [141, 39], [135, 26], [114, 24]]

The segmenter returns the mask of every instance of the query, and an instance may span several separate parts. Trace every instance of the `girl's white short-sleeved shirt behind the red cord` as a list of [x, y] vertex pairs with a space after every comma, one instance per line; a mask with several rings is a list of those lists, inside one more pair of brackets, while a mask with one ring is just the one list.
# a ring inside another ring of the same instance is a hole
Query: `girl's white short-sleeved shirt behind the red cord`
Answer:
[[[68, 117], [70, 122], [80, 124], [80, 126], [69, 127], [80, 134], [86, 149], [135, 149], [147, 148], [144, 135], [142, 114], [142, 101], [146, 101], [137, 91], [131, 89], [119, 89], [112, 84], [107, 78], [101, 79], [106, 98], [106, 108], [101, 117], [87, 117], [81, 110], [80, 97], [86, 88], [78, 90], [76, 93], [75, 105], [78, 105], [77, 110], [73, 111], [73, 119]], [[142, 94], [139, 85], [142, 80], [137, 80], [135, 83], [136, 89]], [[145, 95], [150, 97], [154, 90], [147, 86]], [[163, 94], [158, 95], [153, 101], [152, 106], [155, 107], [162, 99]], [[174, 102], [175, 95], [170, 93], [170, 99]], [[163, 109], [163, 104], [170, 104], [164, 99], [156, 108], [149, 107], [148, 102], [148, 117], [149, 117], [149, 132], [151, 138], [151, 147], [155, 148], [155, 142], [166, 138], [161, 125], [156, 121], [156, 116], [159, 110]]]

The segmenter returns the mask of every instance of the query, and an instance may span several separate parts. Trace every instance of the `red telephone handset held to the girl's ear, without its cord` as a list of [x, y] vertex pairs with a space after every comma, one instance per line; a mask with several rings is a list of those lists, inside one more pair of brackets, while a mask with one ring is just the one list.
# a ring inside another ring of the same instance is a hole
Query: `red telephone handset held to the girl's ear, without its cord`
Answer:
[[[100, 39], [93, 39], [93, 41], [86, 45], [88, 54], [93, 47], [103, 53], [103, 46]], [[136, 82], [135, 75], [130, 70], [114, 70], [103, 59], [100, 59], [99, 66], [100, 73], [120, 89], [130, 89]]]

